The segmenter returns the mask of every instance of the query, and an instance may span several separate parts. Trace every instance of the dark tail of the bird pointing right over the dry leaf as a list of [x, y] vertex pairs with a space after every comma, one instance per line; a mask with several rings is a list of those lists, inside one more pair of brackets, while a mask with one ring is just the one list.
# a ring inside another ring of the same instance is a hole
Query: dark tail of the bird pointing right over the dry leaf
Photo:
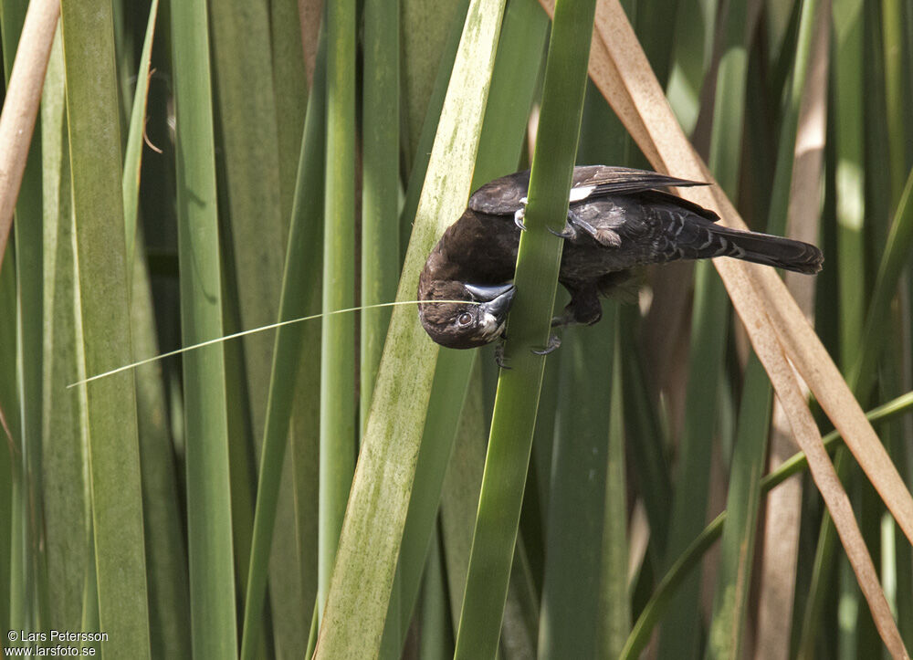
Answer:
[[702, 222], [700, 225], [707, 232], [704, 235], [706, 240], [701, 245], [692, 247], [697, 254], [687, 257], [733, 257], [807, 275], [817, 273], [824, 263], [821, 250], [802, 241], [730, 229], [711, 222]]

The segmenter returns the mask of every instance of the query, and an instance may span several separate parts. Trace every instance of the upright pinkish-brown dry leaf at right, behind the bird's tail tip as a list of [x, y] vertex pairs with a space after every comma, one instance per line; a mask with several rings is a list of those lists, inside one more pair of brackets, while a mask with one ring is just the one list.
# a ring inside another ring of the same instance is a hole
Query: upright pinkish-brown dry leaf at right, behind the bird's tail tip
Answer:
[[[788, 236], [822, 245], [825, 254], [828, 247], [819, 236], [830, 234], [824, 217], [833, 217], [830, 209], [822, 204], [822, 183], [825, 178], [824, 151], [826, 142], [828, 111], [828, 79], [831, 66], [831, 21], [829, 0], [814, 3], [812, 34], [803, 22], [809, 7], [804, 3], [795, 5], [796, 24], [794, 30], [795, 58], [792, 66], [792, 80], [784, 80], [787, 89], [783, 110], [781, 146], [778, 159], [785, 158], [783, 151], [792, 149], [792, 183], [788, 213], [783, 212], [782, 193], [771, 195], [771, 210], [767, 231], [771, 234]], [[787, 48], [784, 46], [784, 50]], [[785, 52], [782, 58], [786, 58]], [[802, 60], [807, 59], [803, 71]], [[801, 97], [801, 102], [800, 102]], [[792, 145], [794, 124], [795, 143]], [[788, 143], [786, 141], [789, 141]], [[775, 185], [784, 185], [780, 165], [774, 177]], [[779, 207], [779, 208], [778, 208]], [[782, 214], [782, 215], [781, 215]], [[788, 217], [787, 217], [788, 216]], [[832, 253], [833, 254], [833, 253]], [[823, 306], [834, 298], [830, 295], [825, 279], [804, 278], [797, 273], [785, 273], [784, 282], [792, 291], [803, 311], [812, 317], [815, 300]], [[826, 328], [829, 320], [823, 314], [817, 316], [819, 328]], [[835, 327], [834, 323], [832, 327]], [[771, 448], [768, 466], [775, 469], [795, 450], [792, 429], [785, 423], [779, 403], [774, 402], [772, 417]], [[792, 639], [798, 635], [785, 635], [783, 631], [800, 627], [797, 613], [803, 608], [807, 593], [806, 556], [801, 541], [803, 519], [804, 481], [792, 482], [778, 490], [768, 499], [764, 515], [763, 563], [755, 583], [760, 581], [758, 595], [757, 628], [755, 633], [756, 653], [785, 657], [790, 653]], [[754, 615], [752, 614], [752, 618]]]

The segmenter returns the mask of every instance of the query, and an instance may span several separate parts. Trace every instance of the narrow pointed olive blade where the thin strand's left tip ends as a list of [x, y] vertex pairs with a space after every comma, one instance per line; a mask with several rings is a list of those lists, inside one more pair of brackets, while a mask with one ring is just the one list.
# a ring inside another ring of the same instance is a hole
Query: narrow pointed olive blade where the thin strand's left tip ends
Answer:
[[73, 251], [69, 145], [64, 100], [63, 44], [48, 62], [41, 104], [44, 177], [44, 410], [43, 475], [46, 487], [47, 578], [50, 622], [79, 630], [82, 591], [89, 570], [89, 484], [85, 478], [86, 429], [79, 393], [67, 389], [83, 377], [76, 319], [77, 270]]

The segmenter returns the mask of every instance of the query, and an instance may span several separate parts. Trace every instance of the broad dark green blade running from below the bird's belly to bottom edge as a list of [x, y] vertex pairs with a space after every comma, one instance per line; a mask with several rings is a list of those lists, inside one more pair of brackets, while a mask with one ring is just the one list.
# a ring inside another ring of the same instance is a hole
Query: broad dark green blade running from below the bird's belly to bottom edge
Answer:
[[[614, 306], [606, 306], [605, 325], [574, 329], [574, 336], [565, 341], [568, 345], [562, 346], [567, 352], [561, 355], [561, 429], [552, 454], [545, 523], [540, 657], [587, 657], [600, 646], [603, 581], [594, 576], [604, 577], [607, 441], [617, 424], [610, 416], [614, 313]], [[626, 573], [625, 566], [625, 592]]]

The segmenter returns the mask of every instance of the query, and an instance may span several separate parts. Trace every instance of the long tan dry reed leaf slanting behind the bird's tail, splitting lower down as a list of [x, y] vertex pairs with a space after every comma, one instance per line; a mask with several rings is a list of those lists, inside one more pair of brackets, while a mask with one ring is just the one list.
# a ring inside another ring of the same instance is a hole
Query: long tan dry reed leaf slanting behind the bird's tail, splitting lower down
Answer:
[[[554, 7], [552, 0], [540, 2], [551, 15]], [[672, 114], [617, 0], [604, 0], [597, 5], [590, 76], [657, 170], [687, 179], [713, 182], [707, 166], [687, 141]], [[726, 225], [745, 226], [719, 186], [691, 189], [687, 191], [687, 197], [716, 210]], [[821, 435], [787, 356], [844, 436], [846, 445], [911, 541], [913, 498], [843, 376], [786, 290], [782, 279], [770, 268], [730, 259], [717, 259], [714, 264], [749, 333], [752, 346], [771, 378], [796, 441], [808, 456], [813, 478], [834, 517], [834, 524], [876, 619], [878, 631], [892, 655], [907, 657], [852, 508], [836, 477], [834, 466], [824, 452]]]

